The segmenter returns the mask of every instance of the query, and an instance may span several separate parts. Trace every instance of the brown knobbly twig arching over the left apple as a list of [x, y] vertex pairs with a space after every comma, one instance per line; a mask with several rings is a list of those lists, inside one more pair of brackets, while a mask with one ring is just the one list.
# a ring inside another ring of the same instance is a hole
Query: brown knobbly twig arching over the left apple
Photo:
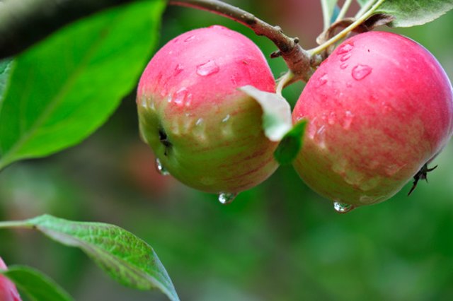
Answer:
[[225, 16], [251, 28], [256, 35], [268, 37], [279, 49], [271, 57], [281, 56], [285, 60], [289, 70], [293, 74], [291, 83], [298, 80], [308, 81], [314, 73], [314, 69], [310, 65], [311, 57], [299, 45], [299, 38], [288, 37], [283, 33], [280, 26], [265, 23], [263, 20], [253, 16], [253, 14], [248, 13], [248, 11], [243, 11], [241, 8], [217, 0], [169, 0], [168, 4], [188, 6], [217, 13], [220, 16]]

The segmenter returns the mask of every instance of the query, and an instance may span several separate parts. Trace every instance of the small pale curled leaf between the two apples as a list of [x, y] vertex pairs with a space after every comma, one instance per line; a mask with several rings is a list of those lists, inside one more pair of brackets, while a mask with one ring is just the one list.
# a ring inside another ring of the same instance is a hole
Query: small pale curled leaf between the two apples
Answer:
[[239, 88], [263, 109], [263, 129], [270, 141], [280, 141], [292, 127], [291, 107], [281, 95], [258, 90], [252, 85]]

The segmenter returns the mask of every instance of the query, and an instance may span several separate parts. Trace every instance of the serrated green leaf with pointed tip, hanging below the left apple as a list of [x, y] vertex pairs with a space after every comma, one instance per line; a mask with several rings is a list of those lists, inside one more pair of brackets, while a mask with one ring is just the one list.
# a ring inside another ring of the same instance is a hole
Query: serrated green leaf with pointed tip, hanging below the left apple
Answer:
[[38, 216], [27, 225], [70, 247], [78, 247], [116, 281], [130, 288], [158, 288], [179, 300], [168, 273], [154, 249], [128, 232], [106, 223], [84, 223]]

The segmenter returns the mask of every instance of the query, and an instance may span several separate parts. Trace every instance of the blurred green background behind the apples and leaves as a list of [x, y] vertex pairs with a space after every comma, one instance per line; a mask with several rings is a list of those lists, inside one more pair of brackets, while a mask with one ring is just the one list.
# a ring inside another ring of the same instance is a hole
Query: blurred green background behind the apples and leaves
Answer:
[[[321, 31], [319, 1], [229, 2], [281, 25], [304, 47], [313, 47]], [[275, 50], [242, 25], [183, 7], [167, 9], [161, 45], [213, 24], [251, 37], [266, 55]], [[397, 32], [428, 48], [453, 78], [452, 28], [450, 12]], [[270, 66], [275, 76], [285, 71], [282, 59]], [[292, 105], [302, 88], [285, 90]], [[154, 247], [181, 300], [453, 300], [452, 155], [450, 143], [433, 163], [439, 167], [429, 184], [420, 182], [410, 197], [408, 184], [389, 201], [346, 215], [292, 167], [222, 206], [217, 196], [156, 173], [139, 140], [132, 91], [79, 146], [1, 172], [0, 220], [50, 213], [120, 225]], [[123, 288], [78, 249], [35, 232], [1, 230], [0, 254], [8, 264], [44, 271], [76, 300], [166, 300]]]

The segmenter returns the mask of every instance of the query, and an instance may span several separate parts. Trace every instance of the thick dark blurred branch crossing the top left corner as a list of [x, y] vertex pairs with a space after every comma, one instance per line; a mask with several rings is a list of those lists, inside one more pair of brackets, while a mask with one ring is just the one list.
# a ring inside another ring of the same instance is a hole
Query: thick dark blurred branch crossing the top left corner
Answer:
[[64, 25], [132, 0], [0, 0], [0, 59], [16, 55]]

